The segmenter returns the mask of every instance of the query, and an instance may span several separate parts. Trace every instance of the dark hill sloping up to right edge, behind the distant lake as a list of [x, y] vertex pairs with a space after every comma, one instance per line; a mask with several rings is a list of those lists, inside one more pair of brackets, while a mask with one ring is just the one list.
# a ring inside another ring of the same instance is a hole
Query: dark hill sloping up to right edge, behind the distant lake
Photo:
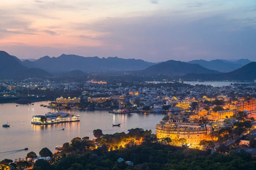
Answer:
[[186, 74], [183, 80], [256, 80], [256, 62], [251, 62], [237, 70], [219, 74]]

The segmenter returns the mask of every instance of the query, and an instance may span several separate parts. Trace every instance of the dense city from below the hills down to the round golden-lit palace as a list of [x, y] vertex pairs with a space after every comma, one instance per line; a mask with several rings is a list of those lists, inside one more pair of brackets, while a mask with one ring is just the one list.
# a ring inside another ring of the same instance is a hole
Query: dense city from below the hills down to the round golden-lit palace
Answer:
[[[68, 107], [81, 110], [105, 110], [117, 114], [142, 112], [152, 114], [166, 112], [167, 116], [156, 124], [159, 139], [186, 139], [189, 145], [199, 145], [202, 140], [216, 141], [211, 135], [221, 128], [231, 127], [244, 120], [254, 125], [256, 118], [255, 83], [211, 85], [189, 85], [176, 83], [108, 83], [107, 81], [51, 82], [44, 79], [2, 81], [1, 99], [30, 95], [40, 97], [41, 91], [72, 91], [76, 95], [65, 96], [65, 92], [54, 98], [48, 107]], [[34, 91], [34, 92], [33, 92]], [[33, 93], [33, 94], [32, 94]], [[78, 94], [78, 95], [77, 95]]]

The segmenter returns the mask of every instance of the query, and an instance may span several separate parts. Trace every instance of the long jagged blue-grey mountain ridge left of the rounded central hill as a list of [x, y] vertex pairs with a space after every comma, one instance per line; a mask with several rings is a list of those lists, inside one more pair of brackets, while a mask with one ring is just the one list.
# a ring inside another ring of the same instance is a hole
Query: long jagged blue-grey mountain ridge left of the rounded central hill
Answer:
[[141, 70], [155, 63], [143, 60], [123, 59], [118, 57], [83, 57], [79, 55], [62, 54], [59, 57], [44, 56], [36, 61], [25, 60], [23, 65], [29, 68], [41, 68], [46, 71], [67, 72], [72, 69], [81, 71], [106, 71], [106, 70]]

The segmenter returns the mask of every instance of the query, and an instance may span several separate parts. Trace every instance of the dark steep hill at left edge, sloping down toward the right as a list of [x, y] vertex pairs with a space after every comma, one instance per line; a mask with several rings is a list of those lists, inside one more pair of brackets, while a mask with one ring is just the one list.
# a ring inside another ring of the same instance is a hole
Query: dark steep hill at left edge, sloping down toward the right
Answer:
[[27, 68], [21, 61], [4, 51], [0, 51], [0, 79], [25, 79], [28, 77], [50, 76], [48, 72], [38, 68]]

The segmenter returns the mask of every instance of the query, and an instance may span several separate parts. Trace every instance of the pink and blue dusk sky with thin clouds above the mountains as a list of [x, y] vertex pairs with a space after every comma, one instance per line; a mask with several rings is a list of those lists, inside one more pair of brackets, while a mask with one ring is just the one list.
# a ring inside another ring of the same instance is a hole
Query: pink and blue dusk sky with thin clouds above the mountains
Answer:
[[0, 50], [150, 62], [256, 61], [255, 0], [1, 0]]

